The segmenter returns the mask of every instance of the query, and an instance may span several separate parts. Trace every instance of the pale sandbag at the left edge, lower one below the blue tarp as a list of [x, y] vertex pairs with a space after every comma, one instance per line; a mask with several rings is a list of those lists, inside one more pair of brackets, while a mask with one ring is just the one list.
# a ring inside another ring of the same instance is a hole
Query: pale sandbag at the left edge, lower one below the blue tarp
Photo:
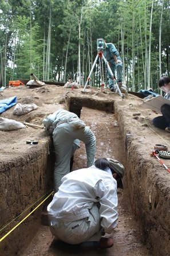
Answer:
[[0, 130], [1, 131], [14, 131], [26, 128], [23, 123], [15, 121], [13, 119], [7, 119], [4, 117], [0, 117]]

